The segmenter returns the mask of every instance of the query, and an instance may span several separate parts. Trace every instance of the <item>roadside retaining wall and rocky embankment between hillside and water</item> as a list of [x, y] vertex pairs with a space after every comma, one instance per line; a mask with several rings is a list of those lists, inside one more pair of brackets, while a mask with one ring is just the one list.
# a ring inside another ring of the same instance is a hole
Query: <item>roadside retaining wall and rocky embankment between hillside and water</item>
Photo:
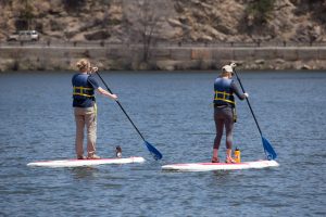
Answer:
[[231, 61], [242, 69], [326, 69], [326, 46], [0, 44], [0, 72], [70, 71], [82, 58], [102, 69], [217, 69]]

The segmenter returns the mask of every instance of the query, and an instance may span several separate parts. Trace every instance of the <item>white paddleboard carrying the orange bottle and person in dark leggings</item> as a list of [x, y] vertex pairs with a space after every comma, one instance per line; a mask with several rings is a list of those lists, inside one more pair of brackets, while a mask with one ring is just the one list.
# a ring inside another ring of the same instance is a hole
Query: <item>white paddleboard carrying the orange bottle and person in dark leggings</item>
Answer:
[[163, 170], [174, 171], [210, 171], [210, 170], [234, 170], [234, 169], [250, 169], [250, 168], [266, 168], [277, 167], [279, 164], [276, 161], [256, 161], [241, 162], [236, 164], [226, 163], [190, 163], [190, 164], [171, 164], [162, 166]]

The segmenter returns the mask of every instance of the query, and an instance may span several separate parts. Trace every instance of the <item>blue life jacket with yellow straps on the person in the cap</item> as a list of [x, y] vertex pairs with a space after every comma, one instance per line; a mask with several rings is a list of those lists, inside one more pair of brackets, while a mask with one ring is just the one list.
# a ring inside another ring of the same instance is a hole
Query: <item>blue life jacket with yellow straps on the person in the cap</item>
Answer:
[[214, 82], [214, 104], [229, 104], [235, 107], [236, 102], [231, 90], [231, 79], [216, 78]]

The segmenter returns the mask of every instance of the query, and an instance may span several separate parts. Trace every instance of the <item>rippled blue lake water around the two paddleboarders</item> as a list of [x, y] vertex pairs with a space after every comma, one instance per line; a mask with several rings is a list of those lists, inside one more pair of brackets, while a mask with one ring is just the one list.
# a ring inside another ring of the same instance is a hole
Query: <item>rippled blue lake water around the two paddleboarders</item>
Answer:
[[[239, 72], [277, 168], [165, 173], [208, 162], [214, 140], [214, 73], [103, 73], [155, 162], [114, 101], [98, 95], [98, 154], [143, 164], [30, 168], [73, 158], [73, 73], [0, 74], [0, 216], [325, 216], [326, 73]], [[234, 148], [264, 158], [247, 103], [238, 101]], [[220, 157], [224, 158], [225, 144]]]

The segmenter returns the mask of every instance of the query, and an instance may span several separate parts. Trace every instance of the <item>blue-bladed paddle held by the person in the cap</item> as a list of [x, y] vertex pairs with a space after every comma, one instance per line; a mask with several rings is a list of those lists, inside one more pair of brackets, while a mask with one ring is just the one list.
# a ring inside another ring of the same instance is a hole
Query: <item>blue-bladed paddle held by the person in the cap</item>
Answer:
[[[233, 68], [234, 68], [235, 75], [236, 75], [236, 77], [237, 77], [237, 79], [238, 79], [238, 81], [239, 81], [239, 84], [240, 84], [240, 87], [241, 87], [242, 91], [246, 92], [246, 91], [244, 91], [244, 88], [243, 88], [243, 86], [242, 86], [242, 84], [241, 84], [241, 80], [240, 80], [240, 78], [239, 78], [239, 76], [238, 76], [238, 74], [237, 74], [237, 71], [236, 71], [236, 64], [233, 63], [233, 64], [230, 64], [230, 65], [231, 65]], [[251, 107], [251, 105], [250, 105], [249, 99], [246, 98], [246, 101], [247, 101], [247, 103], [248, 103], [248, 105], [249, 105], [250, 112], [251, 112], [251, 114], [252, 114], [252, 116], [253, 116], [253, 119], [254, 119], [254, 122], [255, 122], [255, 125], [256, 125], [256, 127], [258, 127], [258, 129], [259, 129], [259, 131], [260, 131], [260, 135], [261, 135], [261, 137], [262, 137], [262, 142], [263, 142], [263, 146], [264, 146], [264, 152], [265, 152], [266, 158], [267, 158], [267, 159], [275, 159], [275, 158], [277, 157], [277, 154], [276, 154], [276, 152], [274, 151], [272, 144], [268, 142], [268, 140], [265, 139], [265, 138], [263, 137], [262, 130], [261, 130], [261, 128], [260, 128], [260, 126], [259, 126], [259, 124], [258, 124], [258, 120], [256, 120], [256, 118], [255, 118], [255, 116], [254, 116], [254, 114], [253, 114], [253, 111], [252, 111], [252, 107]]]

